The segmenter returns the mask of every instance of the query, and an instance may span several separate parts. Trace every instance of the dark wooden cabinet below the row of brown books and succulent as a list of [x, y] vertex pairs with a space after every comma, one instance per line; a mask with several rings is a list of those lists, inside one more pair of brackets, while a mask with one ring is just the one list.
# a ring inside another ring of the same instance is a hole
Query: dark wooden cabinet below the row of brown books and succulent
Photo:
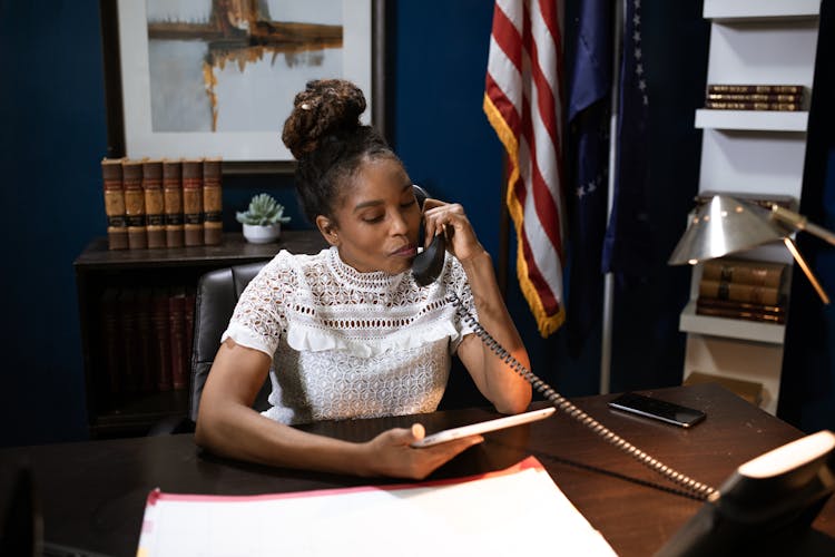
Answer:
[[[111, 374], [118, 375], [126, 364], [136, 362], [127, 361], [125, 351], [108, 345], [106, 339], [110, 336], [105, 331], [102, 307], [106, 293], [195, 289], [199, 277], [215, 268], [268, 261], [281, 250], [312, 254], [324, 247], [326, 244], [317, 231], [284, 231], [278, 242], [272, 244], [250, 244], [239, 233], [226, 233], [220, 245], [158, 250], [109, 251], [107, 238], [94, 240], [73, 263], [90, 436], [145, 434], [154, 423], [169, 417], [185, 417], [188, 409], [188, 389], [114, 392], [110, 388]], [[138, 334], [135, 328], [130, 331], [130, 335]], [[119, 354], [116, 363], [108, 358], [114, 352]], [[190, 358], [190, 346], [188, 354]], [[187, 371], [190, 375], [190, 370]]]

